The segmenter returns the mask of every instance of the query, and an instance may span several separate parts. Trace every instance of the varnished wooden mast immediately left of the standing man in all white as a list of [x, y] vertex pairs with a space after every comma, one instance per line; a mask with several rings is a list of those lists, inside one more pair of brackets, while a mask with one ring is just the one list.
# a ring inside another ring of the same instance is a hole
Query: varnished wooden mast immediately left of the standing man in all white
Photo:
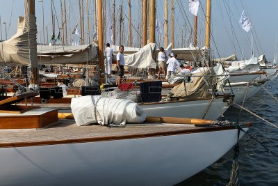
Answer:
[[[97, 0], [97, 21], [98, 21], [98, 36], [99, 36], [99, 68], [104, 72], [104, 36], [102, 22], [102, 0]], [[99, 83], [104, 83], [104, 77], [100, 73]]]

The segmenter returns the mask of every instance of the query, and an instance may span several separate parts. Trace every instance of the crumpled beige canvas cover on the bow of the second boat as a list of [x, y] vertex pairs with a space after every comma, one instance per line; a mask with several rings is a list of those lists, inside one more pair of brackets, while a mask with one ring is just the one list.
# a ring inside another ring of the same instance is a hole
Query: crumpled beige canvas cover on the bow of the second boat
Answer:
[[192, 75], [190, 83], [181, 83], [172, 88], [172, 97], [210, 98], [210, 89], [215, 90], [217, 81], [214, 75], [213, 68], [200, 68], [199, 72]]

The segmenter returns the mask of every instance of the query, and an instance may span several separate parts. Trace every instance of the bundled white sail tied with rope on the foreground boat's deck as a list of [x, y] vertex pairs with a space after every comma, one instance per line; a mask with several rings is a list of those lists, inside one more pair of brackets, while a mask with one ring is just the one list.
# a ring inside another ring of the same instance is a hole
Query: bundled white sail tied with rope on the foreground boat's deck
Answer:
[[136, 102], [103, 98], [101, 95], [72, 98], [70, 107], [79, 126], [92, 123], [100, 125], [142, 123], [147, 116]]

